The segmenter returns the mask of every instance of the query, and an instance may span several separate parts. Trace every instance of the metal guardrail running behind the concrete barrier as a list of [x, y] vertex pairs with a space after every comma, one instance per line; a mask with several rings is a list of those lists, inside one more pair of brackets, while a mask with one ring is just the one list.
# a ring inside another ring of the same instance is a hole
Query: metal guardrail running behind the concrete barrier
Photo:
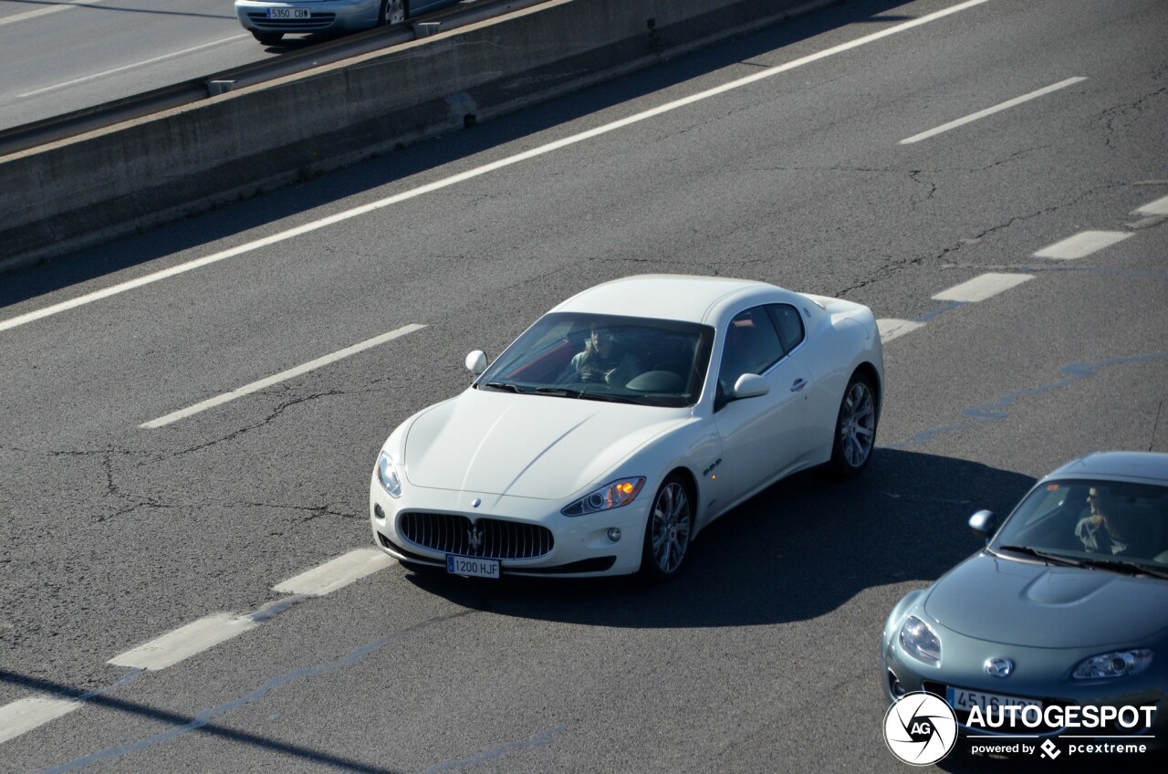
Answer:
[[189, 105], [232, 89], [264, 83], [304, 72], [315, 67], [341, 62], [392, 46], [399, 46], [434, 32], [473, 25], [512, 11], [541, 5], [548, 0], [477, 0], [466, 7], [418, 16], [398, 27], [381, 27], [324, 41], [279, 56], [192, 78], [133, 97], [83, 108], [53, 118], [0, 130], [0, 157], [76, 137], [105, 126]]

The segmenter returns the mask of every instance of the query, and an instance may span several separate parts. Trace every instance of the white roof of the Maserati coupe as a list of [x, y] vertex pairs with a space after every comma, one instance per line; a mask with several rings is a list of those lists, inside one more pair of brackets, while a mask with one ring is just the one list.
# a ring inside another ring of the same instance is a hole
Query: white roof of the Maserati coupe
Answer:
[[638, 275], [580, 291], [554, 312], [624, 315], [712, 325], [726, 306], [792, 300], [792, 293], [751, 279], [691, 275]]

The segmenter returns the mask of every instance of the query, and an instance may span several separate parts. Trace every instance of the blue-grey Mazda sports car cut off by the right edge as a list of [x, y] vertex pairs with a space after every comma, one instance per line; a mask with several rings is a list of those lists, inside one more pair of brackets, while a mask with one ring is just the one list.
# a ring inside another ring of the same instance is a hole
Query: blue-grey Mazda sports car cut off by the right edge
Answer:
[[1168, 454], [1076, 459], [969, 526], [986, 548], [884, 624], [889, 700], [934, 693], [966, 737], [1168, 747]]

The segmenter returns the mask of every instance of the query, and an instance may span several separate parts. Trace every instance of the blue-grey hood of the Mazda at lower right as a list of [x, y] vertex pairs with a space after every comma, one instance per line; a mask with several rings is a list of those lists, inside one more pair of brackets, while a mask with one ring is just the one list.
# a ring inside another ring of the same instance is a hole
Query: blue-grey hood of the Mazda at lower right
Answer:
[[1031, 648], [1147, 641], [1164, 628], [1168, 581], [980, 553], [941, 578], [925, 613], [978, 640]]

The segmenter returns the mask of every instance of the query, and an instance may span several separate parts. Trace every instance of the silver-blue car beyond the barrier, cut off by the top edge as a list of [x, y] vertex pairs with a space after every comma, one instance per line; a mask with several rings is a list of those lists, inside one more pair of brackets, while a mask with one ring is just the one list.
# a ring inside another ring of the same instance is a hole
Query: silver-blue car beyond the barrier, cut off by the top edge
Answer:
[[286, 34], [352, 33], [396, 25], [459, 0], [235, 0], [244, 29], [265, 46]]

